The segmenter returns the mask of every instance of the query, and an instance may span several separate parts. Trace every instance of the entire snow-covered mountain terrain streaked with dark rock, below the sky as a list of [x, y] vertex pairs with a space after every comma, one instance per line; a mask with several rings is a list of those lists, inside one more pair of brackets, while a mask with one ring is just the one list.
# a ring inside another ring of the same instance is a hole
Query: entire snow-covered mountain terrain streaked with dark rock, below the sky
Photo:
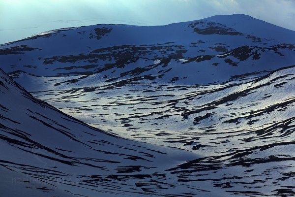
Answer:
[[0, 164], [56, 194], [295, 195], [293, 31], [245, 15], [104, 24], [1, 45], [0, 60], [79, 120], [2, 74]]

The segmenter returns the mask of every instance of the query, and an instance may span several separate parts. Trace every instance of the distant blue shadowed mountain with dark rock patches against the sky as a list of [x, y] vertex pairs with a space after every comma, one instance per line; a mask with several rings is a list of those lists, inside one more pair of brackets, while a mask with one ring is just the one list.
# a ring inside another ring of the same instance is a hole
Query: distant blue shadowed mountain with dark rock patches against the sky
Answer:
[[292, 65], [294, 37], [294, 31], [245, 15], [166, 26], [102, 24], [1, 45], [0, 61], [9, 73], [95, 73], [98, 82], [140, 77], [194, 85]]

